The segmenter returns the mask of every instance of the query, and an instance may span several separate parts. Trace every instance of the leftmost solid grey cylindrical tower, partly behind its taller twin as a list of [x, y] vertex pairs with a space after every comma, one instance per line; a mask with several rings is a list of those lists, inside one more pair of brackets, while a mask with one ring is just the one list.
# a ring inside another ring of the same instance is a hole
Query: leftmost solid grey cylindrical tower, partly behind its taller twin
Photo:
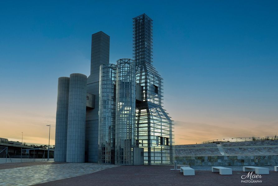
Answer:
[[68, 90], [69, 78], [59, 78], [55, 132], [55, 162], [66, 162], [68, 131]]

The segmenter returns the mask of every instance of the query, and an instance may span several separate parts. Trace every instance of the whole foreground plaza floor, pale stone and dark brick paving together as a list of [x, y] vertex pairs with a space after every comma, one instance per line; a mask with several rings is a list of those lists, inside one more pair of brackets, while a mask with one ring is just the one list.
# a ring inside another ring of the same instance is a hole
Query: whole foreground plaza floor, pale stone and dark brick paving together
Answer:
[[[19, 167], [21, 166], [21, 167]], [[173, 166], [116, 166], [96, 163], [27, 162], [7, 163], [0, 167], [0, 185], [277, 185], [278, 172], [270, 168], [260, 183], [242, 183], [247, 175], [241, 166], [230, 167], [233, 175], [211, 172], [211, 166], [194, 166], [195, 176], [184, 176]], [[16, 167], [16, 168], [13, 168]], [[179, 168], [179, 167], [178, 167]], [[253, 173], [254, 174], [254, 173]], [[247, 180], [247, 179], [245, 179]], [[250, 180], [250, 179], [248, 179]]]

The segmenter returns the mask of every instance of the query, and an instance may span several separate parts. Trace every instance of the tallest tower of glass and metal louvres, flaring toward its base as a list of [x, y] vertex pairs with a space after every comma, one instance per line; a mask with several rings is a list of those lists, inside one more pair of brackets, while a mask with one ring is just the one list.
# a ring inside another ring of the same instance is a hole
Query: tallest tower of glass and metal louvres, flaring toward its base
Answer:
[[136, 83], [143, 91], [142, 101], [136, 100], [136, 146], [144, 148], [144, 164], [171, 164], [173, 124], [162, 107], [162, 78], [152, 64], [152, 20], [145, 14], [133, 20]]

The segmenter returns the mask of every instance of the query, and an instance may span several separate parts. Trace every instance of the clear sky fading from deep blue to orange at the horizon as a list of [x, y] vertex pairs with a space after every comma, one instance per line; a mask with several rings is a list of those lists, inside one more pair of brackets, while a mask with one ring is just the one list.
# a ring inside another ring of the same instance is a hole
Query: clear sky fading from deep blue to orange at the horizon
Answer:
[[142, 13], [176, 144], [278, 132], [278, 1], [0, 1], [0, 137], [54, 144], [58, 78], [89, 75], [98, 31], [132, 58]]

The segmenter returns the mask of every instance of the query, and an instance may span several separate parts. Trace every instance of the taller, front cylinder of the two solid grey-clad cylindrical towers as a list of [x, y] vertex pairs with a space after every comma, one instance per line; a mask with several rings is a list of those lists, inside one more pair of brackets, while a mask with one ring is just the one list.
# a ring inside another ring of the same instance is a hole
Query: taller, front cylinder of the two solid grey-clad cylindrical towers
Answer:
[[67, 162], [85, 161], [87, 76], [70, 74], [68, 94]]

